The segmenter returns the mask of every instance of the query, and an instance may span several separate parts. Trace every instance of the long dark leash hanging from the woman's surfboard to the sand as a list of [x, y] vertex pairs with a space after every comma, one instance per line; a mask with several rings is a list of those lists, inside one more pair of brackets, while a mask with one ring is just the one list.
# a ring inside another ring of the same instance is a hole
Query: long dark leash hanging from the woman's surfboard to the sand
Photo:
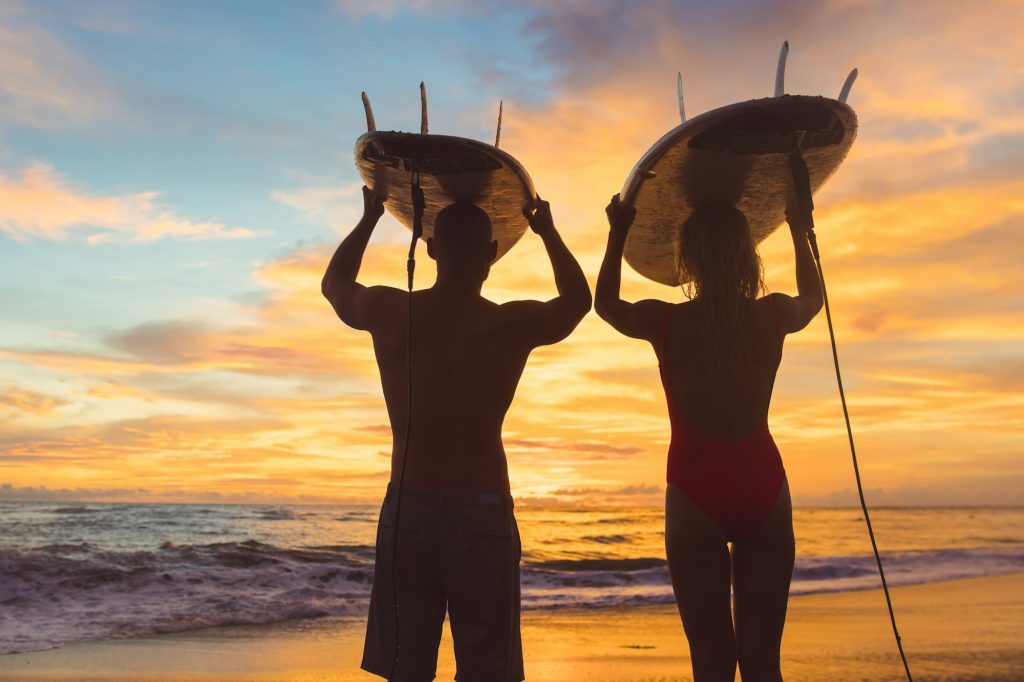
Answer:
[[[798, 143], [799, 148], [799, 143]], [[864, 512], [864, 522], [867, 525], [867, 536], [871, 539], [871, 550], [874, 552], [874, 562], [879, 565], [879, 576], [882, 578], [882, 591], [886, 595], [886, 605], [889, 607], [889, 621], [893, 626], [893, 635], [896, 637], [896, 648], [899, 649], [899, 657], [903, 662], [903, 670], [906, 672], [907, 682], [913, 682], [910, 676], [910, 666], [906, 662], [906, 654], [903, 653], [903, 642], [896, 628], [896, 613], [893, 611], [892, 598], [889, 596], [889, 584], [886, 582], [886, 571], [882, 567], [882, 556], [879, 554], [879, 545], [874, 542], [874, 530], [871, 527], [871, 517], [867, 513], [867, 502], [864, 501], [864, 487], [860, 482], [860, 467], [857, 465], [857, 449], [853, 444], [853, 427], [850, 426], [850, 412], [846, 407], [846, 391], [843, 390], [843, 374], [839, 369], [839, 351], [836, 348], [836, 331], [833, 329], [831, 309], [828, 307], [828, 292], [825, 290], [825, 274], [821, 269], [821, 254], [818, 252], [818, 241], [814, 235], [814, 205], [811, 200], [810, 180], [808, 177], [807, 164], [799, 154], [791, 157], [791, 171], [796, 181], [798, 201], [802, 205], [801, 213], [807, 220], [807, 240], [811, 245], [811, 254], [814, 256], [814, 263], [818, 270], [818, 282], [821, 283], [821, 298], [825, 304], [825, 321], [828, 323], [828, 338], [831, 341], [833, 361], [836, 365], [836, 382], [839, 384], [839, 397], [843, 403], [843, 418], [846, 420], [846, 434], [850, 439], [850, 455], [853, 458], [853, 475], [857, 479], [857, 495], [860, 496], [860, 508]], [[801, 178], [796, 176], [801, 175]]]

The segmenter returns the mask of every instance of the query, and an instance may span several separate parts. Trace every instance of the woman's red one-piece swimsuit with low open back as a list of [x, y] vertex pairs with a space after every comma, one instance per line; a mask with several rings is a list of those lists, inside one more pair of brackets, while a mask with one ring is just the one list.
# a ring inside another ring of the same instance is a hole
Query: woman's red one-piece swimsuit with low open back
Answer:
[[[778, 310], [771, 298], [767, 300], [781, 337], [784, 333]], [[785, 480], [782, 458], [767, 421], [750, 435], [719, 440], [697, 431], [683, 419], [665, 368], [669, 358], [665, 337], [672, 309], [666, 306], [662, 318], [658, 365], [672, 422], [667, 479], [718, 523], [727, 540], [741, 541], [761, 528], [778, 500]]]

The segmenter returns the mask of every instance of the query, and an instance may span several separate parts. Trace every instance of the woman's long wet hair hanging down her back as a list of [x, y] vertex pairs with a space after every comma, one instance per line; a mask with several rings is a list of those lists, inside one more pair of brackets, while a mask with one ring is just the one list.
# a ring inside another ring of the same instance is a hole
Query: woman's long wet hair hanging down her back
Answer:
[[700, 339], [715, 369], [752, 367], [765, 353], [753, 333], [764, 271], [746, 217], [731, 204], [699, 207], [683, 223], [678, 245], [679, 271], [689, 280], [684, 291], [702, 308]]

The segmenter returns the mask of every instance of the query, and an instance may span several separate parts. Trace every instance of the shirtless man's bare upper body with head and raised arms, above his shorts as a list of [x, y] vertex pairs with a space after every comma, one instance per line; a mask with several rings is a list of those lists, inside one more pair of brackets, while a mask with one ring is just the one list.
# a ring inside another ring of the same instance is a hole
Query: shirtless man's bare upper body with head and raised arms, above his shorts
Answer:
[[[427, 253], [434, 286], [413, 295], [413, 424], [409, 420], [409, 293], [355, 281], [380, 201], [364, 188], [364, 219], [335, 253], [324, 295], [349, 327], [370, 332], [391, 421], [391, 480], [430, 489], [508, 493], [501, 428], [530, 350], [568, 336], [590, 310], [580, 264], [562, 243], [547, 202], [526, 213], [544, 241], [558, 296], [503, 305], [480, 296], [498, 243], [472, 205], [438, 213]], [[408, 436], [408, 438], [407, 438]], [[407, 442], [408, 441], [408, 442]]]

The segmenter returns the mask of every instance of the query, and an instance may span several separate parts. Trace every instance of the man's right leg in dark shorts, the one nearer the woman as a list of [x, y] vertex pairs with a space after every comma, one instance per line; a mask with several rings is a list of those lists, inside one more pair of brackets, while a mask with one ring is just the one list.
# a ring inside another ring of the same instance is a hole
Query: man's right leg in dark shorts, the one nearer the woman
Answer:
[[511, 499], [445, 509], [444, 585], [459, 682], [523, 679], [519, 529]]

